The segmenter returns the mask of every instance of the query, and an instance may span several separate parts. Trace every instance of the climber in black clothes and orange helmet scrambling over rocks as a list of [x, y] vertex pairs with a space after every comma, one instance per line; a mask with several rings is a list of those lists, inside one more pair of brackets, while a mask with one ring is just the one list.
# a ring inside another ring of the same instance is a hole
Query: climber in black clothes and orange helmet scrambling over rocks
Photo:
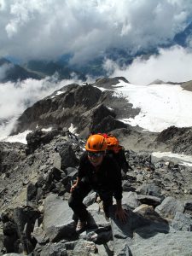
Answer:
[[79, 162], [78, 178], [71, 188], [69, 207], [79, 218], [76, 231], [83, 231], [89, 222], [89, 212], [83, 204], [84, 197], [94, 189], [100, 196], [106, 218], [109, 217], [109, 207], [116, 199], [115, 217], [125, 223], [127, 213], [122, 208], [122, 185], [119, 165], [110, 155], [105, 154], [107, 141], [99, 134], [88, 138], [86, 152]]

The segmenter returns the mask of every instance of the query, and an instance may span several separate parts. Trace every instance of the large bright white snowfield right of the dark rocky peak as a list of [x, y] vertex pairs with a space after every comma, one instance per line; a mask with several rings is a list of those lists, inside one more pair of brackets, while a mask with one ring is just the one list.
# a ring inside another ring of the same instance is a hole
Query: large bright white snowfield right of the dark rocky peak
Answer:
[[[140, 108], [135, 118], [124, 118], [125, 123], [139, 125], [145, 130], [160, 132], [175, 125], [192, 126], [192, 92], [179, 84], [135, 85], [120, 82], [115, 96], [124, 96], [133, 108]], [[113, 87], [115, 87], [113, 86]]]

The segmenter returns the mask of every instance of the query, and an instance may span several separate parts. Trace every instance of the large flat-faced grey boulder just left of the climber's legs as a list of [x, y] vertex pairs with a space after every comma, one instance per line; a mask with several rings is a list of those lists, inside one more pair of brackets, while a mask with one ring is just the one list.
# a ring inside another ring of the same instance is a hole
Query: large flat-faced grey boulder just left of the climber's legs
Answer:
[[45, 199], [43, 229], [49, 236], [49, 241], [60, 241], [62, 238], [74, 236], [75, 224], [72, 216], [73, 211], [61, 197], [52, 194]]

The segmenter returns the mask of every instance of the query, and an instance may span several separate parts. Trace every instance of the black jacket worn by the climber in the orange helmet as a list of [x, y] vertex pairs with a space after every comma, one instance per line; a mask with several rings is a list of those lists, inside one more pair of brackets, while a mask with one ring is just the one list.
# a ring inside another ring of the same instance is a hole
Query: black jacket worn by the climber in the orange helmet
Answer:
[[122, 198], [121, 172], [119, 165], [108, 154], [104, 155], [102, 164], [96, 171], [88, 159], [87, 152], [80, 158], [78, 177], [90, 184], [98, 192], [113, 191], [114, 198]]

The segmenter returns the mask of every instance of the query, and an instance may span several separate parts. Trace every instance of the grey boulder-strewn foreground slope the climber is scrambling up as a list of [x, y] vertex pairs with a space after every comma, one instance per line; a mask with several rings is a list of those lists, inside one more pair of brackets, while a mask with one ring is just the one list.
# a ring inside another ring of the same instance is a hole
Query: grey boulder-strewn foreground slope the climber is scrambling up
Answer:
[[78, 236], [67, 199], [84, 141], [62, 129], [37, 130], [26, 138], [27, 145], [0, 143], [0, 255], [189, 255], [192, 251], [192, 167], [126, 148], [131, 166], [122, 177], [127, 223], [113, 217], [113, 207], [110, 221], [106, 220], [101, 202], [91, 193], [84, 203], [92, 223]]

